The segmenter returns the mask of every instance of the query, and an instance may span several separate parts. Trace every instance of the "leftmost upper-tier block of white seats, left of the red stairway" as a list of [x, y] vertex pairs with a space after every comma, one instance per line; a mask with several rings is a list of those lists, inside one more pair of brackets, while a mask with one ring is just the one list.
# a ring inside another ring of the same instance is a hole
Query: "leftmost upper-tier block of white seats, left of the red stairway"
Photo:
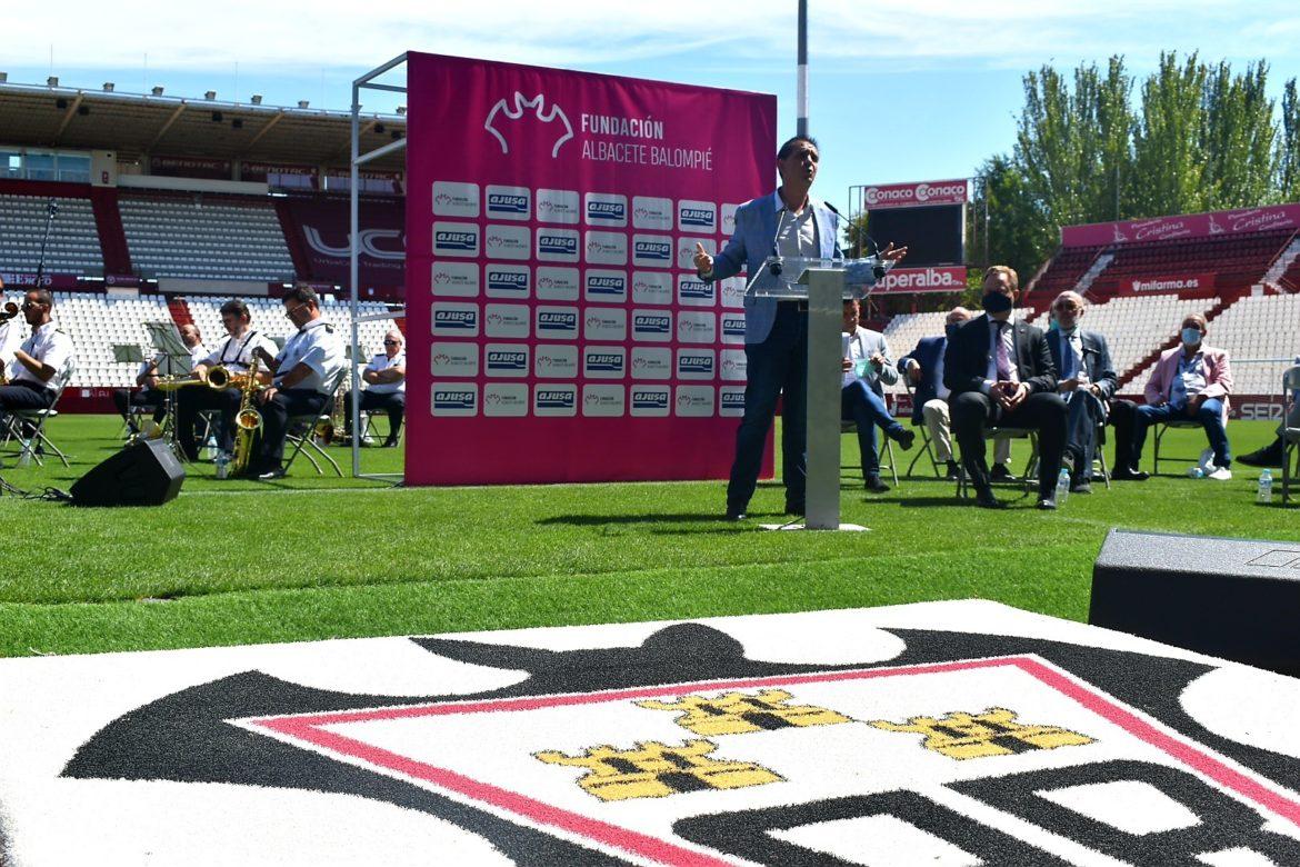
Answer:
[[[49, 199], [0, 194], [0, 272], [35, 273]], [[58, 214], [46, 248], [47, 274], [104, 272], [90, 199], [57, 198]]]

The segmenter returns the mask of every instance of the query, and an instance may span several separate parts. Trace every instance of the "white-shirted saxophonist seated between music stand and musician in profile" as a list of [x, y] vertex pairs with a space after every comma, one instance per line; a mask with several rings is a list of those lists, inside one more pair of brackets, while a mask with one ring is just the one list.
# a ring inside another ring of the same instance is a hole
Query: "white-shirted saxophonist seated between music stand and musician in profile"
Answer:
[[[224, 367], [231, 374], [247, 373], [252, 364], [254, 352], [259, 348], [274, 352], [276, 342], [261, 331], [252, 329], [252, 315], [248, 305], [238, 298], [221, 305], [221, 324], [225, 326], [225, 341], [217, 346], [207, 357], [194, 365], [194, 377], [207, 380], [208, 370], [214, 367]], [[265, 370], [265, 368], [263, 369]], [[259, 378], [269, 381], [269, 376]], [[239, 390], [225, 389], [217, 391], [200, 386], [190, 386], [177, 391], [176, 407], [176, 439], [181, 445], [181, 452], [188, 460], [199, 459], [199, 446], [194, 439], [194, 424], [199, 412], [204, 409], [217, 409], [221, 412], [217, 424], [217, 446], [226, 454], [234, 450], [234, 417], [239, 409]]]

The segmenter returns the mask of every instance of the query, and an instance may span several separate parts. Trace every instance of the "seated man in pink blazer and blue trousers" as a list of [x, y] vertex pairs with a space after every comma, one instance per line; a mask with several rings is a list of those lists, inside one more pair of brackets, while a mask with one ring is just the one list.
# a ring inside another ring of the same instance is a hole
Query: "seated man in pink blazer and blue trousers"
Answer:
[[1232, 478], [1232, 452], [1227, 445], [1227, 395], [1232, 369], [1227, 352], [1205, 344], [1205, 317], [1192, 313], [1183, 320], [1182, 343], [1161, 354], [1147, 381], [1147, 406], [1134, 417], [1134, 465], [1141, 459], [1147, 429], [1164, 421], [1199, 421], [1214, 451], [1216, 481]]

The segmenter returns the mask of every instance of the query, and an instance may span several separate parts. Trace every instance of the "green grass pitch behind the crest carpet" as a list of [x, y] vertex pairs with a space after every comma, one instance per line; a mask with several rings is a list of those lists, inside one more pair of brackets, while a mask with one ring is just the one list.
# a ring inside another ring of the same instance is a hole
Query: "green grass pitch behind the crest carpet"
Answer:
[[[120, 446], [121, 422], [68, 416], [51, 434], [73, 458], [0, 474], [66, 489]], [[1273, 425], [1232, 422], [1236, 454]], [[958, 506], [950, 482], [864, 494], [844, 445], [844, 519], [870, 533], [770, 533], [783, 490], [760, 482], [748, 523], [720, 520], [723, 482], [402, 489], [318, 477], [216, 481], [191, 468], [161, 508], [82, 510], [0, 497], [0, 655], [438, 633], [985, 598], [1082, 620], [1092, 562], [1113, 526], [1300, 541], [1300, 512], [1254, 503], [1257, 471], [1182, 476], [1199, 432], [1148, 482], [1100, 485], [1057, 513]], [[718, 448], [732, 448], [719, 442]], [[919, 439], [918, 439], [919, 447]], [[1149, 469], [1152, 443], [1148, 442]], [[347, 452], [337, 450], [344, 463]], [[915, 452], [896, 450], [901, 464]], [[904, 459], [906, 455], [906, 459]], [[1017, 443], [1019, 472], [1027, 456]], [[923, 461], [924, 463], [924, 461]], [[1164, 463], [1164, 461], [1162, 461]], [[399, 472], [365, 450], [365, 472]], [[344, 463], [346, 468], [346, 463]], [[919, 467], [918, 467], [919, 468]], [[1278, 498], [1280, 499], [1280, 498]]]

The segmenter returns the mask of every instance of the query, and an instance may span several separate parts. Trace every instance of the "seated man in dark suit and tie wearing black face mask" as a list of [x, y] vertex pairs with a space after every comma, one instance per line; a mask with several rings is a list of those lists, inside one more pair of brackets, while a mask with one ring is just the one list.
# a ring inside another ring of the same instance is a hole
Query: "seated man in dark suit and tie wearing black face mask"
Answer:
[[1043, 330], [1011, 322], [1019, 277], [1006, 265], [984, 273], [984, 315], [958, 326], [944, 352], [944, 385], [962, 464], [983, 508], [1002, 508], [989, 486], [984, 428], [1039, 432], [1039, 508], [1056, 508], [1056, 481], [1065, 451], [1065, 400]]

